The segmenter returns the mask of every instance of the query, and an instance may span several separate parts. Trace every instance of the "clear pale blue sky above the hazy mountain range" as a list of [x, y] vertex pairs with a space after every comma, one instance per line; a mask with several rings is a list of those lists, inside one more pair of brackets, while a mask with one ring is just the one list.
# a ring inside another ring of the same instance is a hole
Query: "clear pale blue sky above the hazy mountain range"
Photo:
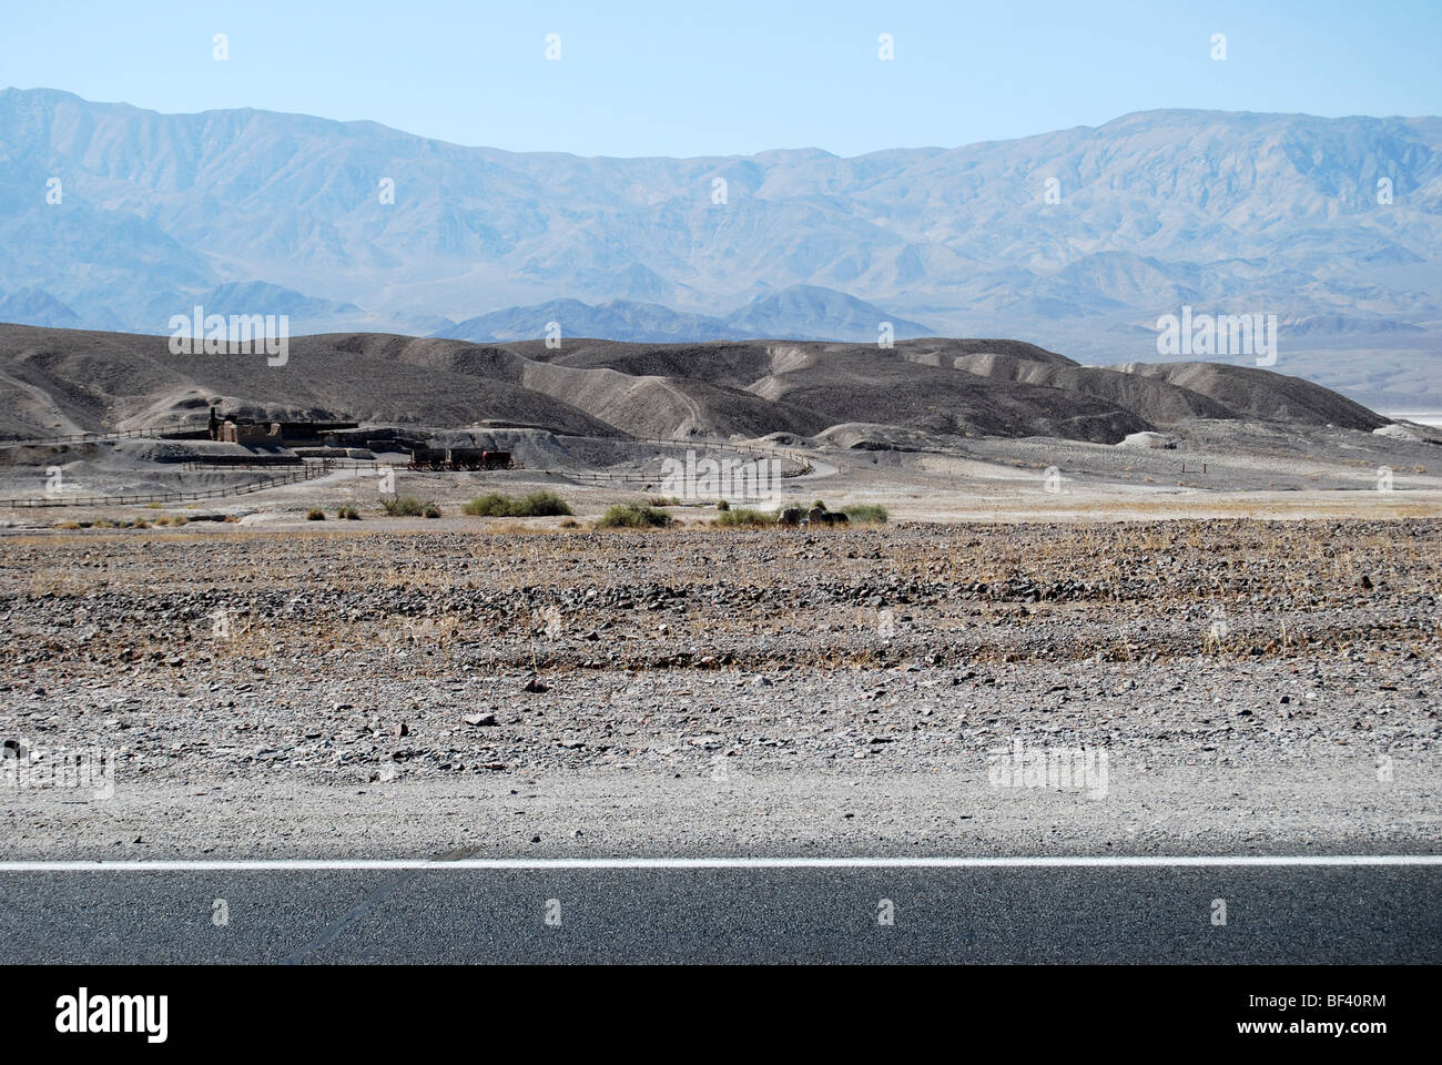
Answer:
[[1159, 107], [1442, 114], [1442, 0], [7, 0], [0, 85], [525, 152], [851, 156]]

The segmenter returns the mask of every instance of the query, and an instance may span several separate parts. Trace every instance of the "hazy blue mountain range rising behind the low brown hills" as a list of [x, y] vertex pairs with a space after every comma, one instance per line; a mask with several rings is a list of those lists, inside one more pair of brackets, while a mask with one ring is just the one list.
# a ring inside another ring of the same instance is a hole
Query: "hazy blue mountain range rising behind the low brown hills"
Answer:
[[1122, 362], [1155, 361], [1187, 304], [1278, 315], [1283, 372], [1442, 407], [1439, 118], [1151, 111], [855, 159], [581, 159], [6, 89], [0, 241], [0, 320], [33, 325], [164, 333], [195, 303], [464, 339], [890, 320]]

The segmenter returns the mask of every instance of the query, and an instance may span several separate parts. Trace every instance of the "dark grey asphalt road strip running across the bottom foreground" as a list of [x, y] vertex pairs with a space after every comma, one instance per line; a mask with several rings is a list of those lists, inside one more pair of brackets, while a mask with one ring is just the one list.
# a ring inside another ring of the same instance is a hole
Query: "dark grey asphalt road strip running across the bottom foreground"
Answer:
[[1436, 860], [937, 862], [0, 863], [0, 963], [1442, 961]]

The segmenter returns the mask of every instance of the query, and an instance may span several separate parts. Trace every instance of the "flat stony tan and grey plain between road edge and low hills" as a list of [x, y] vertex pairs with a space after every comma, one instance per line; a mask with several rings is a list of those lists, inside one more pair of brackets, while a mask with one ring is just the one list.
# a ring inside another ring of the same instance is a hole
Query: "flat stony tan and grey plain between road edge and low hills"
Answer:
[[[721, 528], [692, 505], [598, 530], [634, 491], [538, 470], [401, 473], [434, 521], [379, 514], [355, 473], [209, 508], [231, 522], [13, 512], [0, 732], [112, 773], [7, 789], [4, 856], [1435, 847], [1422, 478], [1047, 492], [1040, 470], [812, 469], [793, 492], [890, 524]], [[457, 509], [538, 485], [575, 515]], [[346, 501], [359, 521], [304, 520]], [[1087, 752], [1087, 775], [1028, 781], [1047, 750]]]

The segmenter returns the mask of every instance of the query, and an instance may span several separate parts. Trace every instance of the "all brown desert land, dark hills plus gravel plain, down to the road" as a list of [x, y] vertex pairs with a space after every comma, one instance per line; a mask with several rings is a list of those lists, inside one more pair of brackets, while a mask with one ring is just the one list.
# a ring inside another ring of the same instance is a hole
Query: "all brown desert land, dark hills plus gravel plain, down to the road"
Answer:
[[[0, 355], [0, 768], [111, 771], [7, 786], [4, 857], [1435, 846], [1442, 431], [1298, 378], [1011, 341]], [[208, 406], [356, 427], [157, 433]], [[410, 469], [417, 433], [516, 468]], [[779, 476], [678, 494], [698, 457]], [[466, 514], [541, 491], [571, 514]], [[601, 527], [626, 504], [665, 527]], [[774, 521], [815, 504], [857, 520]], [[1053, 752], [1090, 761], [1022, 772]]]

